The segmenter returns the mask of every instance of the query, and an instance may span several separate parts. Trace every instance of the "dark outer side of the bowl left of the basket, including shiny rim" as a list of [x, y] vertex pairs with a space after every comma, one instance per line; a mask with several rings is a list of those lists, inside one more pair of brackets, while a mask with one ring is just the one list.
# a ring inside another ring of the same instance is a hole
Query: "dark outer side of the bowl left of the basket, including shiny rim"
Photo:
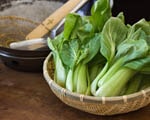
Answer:
[[24, 72], [42, 72], [43, 61], [50, 50], [26, 51], [0, 47], [3, 63], [15, 70]]

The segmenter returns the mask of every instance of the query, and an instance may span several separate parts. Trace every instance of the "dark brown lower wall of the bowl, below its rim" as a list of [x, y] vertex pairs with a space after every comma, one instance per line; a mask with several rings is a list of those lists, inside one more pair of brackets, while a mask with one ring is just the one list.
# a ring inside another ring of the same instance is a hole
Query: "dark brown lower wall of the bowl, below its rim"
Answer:
[[45, 57], [18, 57], [1, 55], [3, 63], [15, 70], [24, 72], [41, 72]]

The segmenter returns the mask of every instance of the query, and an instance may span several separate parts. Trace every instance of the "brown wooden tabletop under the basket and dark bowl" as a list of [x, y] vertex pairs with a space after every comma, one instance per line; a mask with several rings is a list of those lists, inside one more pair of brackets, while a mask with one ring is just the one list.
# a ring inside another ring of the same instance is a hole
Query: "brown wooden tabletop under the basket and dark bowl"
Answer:
[[12, 70], [0, 61], [0, 120], [150, 120], [150, 105], [115, 116], [96, 116], [62, 103], [42, 73]]

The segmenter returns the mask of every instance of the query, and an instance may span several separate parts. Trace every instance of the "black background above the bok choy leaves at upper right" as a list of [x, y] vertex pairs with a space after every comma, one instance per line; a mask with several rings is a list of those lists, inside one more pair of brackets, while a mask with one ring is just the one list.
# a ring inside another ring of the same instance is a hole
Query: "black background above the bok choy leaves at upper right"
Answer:
[[149, 0], [114, 0], [113, 15], [121, 11], [124, 12], [126, 23], [133, 24], [142, 18], [150, 21]]

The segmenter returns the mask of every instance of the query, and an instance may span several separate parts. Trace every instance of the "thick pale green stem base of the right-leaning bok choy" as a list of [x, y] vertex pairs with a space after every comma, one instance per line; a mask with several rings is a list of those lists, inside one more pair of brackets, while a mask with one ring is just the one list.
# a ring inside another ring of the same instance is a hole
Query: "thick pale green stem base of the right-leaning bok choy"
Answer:
[[107, 82], [99, 87], [96, 91], [96, 96], [118, 96], [135, 73], [132, 69], [126, 67], [121, 68]]

